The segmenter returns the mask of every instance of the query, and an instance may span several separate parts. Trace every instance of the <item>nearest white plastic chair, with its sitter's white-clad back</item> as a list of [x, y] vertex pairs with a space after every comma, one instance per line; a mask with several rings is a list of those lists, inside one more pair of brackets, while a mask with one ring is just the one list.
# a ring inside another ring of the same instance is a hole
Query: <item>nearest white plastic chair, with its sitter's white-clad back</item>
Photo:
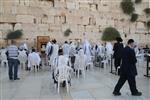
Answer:
[[[55, 79], [58, 81], [57, 91], [59, 93], [60, 84], [65, 81], [67, 93], [69, 92], [69, 81], [71, 81], [72, 68], [68, 65], [69, 58], [66, 56], [59, 56], [57, 60], [57, 68], [54, 69]], [[58, 74], [58, 75], [57, 75]], [[71, 82], [70, 82], [71, 85]]]

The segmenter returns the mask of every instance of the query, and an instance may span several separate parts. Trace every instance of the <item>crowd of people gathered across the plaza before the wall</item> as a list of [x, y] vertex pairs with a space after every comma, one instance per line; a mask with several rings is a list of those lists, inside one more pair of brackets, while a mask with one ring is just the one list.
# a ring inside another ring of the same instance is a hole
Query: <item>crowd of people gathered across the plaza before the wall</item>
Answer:
[[[111, 42], [91, 44], [88, 40], [85, 40], [83, 43], [65, 41], [63, 45], [59, 45], [55, 39], [49, 41], [46, 45], [45, 54], [47, 66], [50, 66], [52, 71], [54, 83], [58, 83], [56, 76], [60, 72], [58, 72], [57, 67], [62, 66], [62, 62], [63, 64], [66, 63], [65, 66], [70, 66], [70, 69], [76, 73], [78, 71], [76, 67], [79, 67], [79, 64], [84, 63], [85, 69], [87, 69], [89, 63], [91, 64], [90, 66], [96, 66], [96, 63], [99, 62], [101, 63], [100, 67], [104, 67], [104, 61], [107, 60], [109, 64], [113, 57], [115, 71], [117, 72], [118, 67], [120, 68], [120, 79], [113, 94], [115, 96], [121, 95], [120, 89], [125, 81], [128, 80], [132, 95], [142, 95], [141, 92], [138, 92], [135, 81], [135, 76], [137, 75], [136, 55], [142, 50], [135, 46], [133, 39], [130, 39], [126, 46], [122, 43], [123, 40], [121, 38], [116, 38], [116, 41], [114, 46]], [[19, 65], [29, 71], [32, 69], [40, 70], [44, 66], [40, 55], [41, 53], [37, 52], [35, 48], [29, 49], [26, 43], [18, 48], [16, 42], [12, 40], [11, 45], [1, 48], [0, 61], [2, 66], [8, 64], [9, 79], [19, 80]], [[61, 59], [62, 61], [60, 61]], [[78, 73], [81, 72], [79, 71]], [[63, 82], [63, 86], [65, 84]]]

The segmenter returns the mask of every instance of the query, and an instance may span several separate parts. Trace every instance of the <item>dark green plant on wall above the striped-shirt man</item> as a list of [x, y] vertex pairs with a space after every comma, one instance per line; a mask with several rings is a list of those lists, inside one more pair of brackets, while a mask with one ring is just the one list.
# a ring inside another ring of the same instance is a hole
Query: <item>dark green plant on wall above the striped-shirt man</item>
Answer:
[[10, 31], [7, 34], [7, 39], [19, 39], [23, 35], [22, 30]]

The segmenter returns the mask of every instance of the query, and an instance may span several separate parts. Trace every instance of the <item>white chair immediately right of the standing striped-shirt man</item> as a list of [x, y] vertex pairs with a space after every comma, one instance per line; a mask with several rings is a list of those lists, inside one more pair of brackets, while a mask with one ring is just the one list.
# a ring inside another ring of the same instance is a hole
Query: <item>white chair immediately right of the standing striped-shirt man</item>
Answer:
[[19, 51], [18, 59], [20, 61], [20, 65], [25, 68], [26, 67], [26, 62], [27, 62], [27, 54], [26, 51]]

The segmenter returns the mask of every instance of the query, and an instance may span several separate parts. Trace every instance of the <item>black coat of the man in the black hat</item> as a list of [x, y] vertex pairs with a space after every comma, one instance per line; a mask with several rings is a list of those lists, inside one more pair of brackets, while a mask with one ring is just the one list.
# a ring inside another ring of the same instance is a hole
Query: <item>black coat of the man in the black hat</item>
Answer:
[[123, 44], [122, 43], [115, 43], [114, 44], [114, 58], [121, 58], [122, 56], [122, 50], [123, 50]]

